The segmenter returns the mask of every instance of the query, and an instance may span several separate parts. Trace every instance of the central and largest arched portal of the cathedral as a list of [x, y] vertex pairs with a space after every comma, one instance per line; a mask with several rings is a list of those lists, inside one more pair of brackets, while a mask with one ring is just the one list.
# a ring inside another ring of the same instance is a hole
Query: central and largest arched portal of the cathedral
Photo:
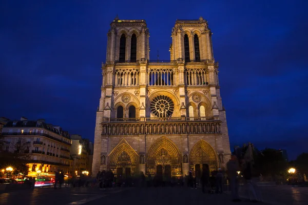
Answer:
[[146, 174], [160, 174], [158, 170], [162, 167], [162, 174], [166, 177], [182, 176], [182, 155], [167, 137], [157, 139], [146, 156]]

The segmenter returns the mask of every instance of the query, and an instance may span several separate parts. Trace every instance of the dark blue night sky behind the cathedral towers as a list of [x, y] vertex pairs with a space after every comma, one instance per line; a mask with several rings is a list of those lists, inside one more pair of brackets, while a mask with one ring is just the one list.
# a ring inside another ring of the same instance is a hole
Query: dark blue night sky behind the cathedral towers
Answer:
[[[149, 3], [153, 2], [153, 3]], [[308, 1], [1, 1], [0, 116], [93, 140], [109, 24], [145, 19], [170, 59], [176, 19], [208, 20], [230, 144], [308, 151]]]

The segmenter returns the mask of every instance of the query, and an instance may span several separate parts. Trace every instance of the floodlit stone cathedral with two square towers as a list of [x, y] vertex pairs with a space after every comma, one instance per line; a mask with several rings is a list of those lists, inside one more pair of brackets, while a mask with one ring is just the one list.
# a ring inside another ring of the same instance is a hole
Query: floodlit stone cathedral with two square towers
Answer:
[[110, 27], [92, 174], [224, 169], [231, 153], [207, 21], [176, 20], [167, 61], [149, 59], [145, 20], [117, 17]]

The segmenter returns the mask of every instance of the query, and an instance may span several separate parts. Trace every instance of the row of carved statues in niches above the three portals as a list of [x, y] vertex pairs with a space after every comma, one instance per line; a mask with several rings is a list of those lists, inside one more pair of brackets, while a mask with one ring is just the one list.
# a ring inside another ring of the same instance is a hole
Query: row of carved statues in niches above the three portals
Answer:
[[176, 124], [104, 124], [102, 135], [123, 134], [214, 134], [221, 133], [220, 123], [176, 123]]

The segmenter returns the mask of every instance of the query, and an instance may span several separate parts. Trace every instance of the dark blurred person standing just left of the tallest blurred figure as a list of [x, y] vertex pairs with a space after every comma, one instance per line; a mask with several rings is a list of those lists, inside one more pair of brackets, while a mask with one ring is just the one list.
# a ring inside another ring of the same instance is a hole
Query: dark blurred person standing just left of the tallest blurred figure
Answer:
[[237, 178], [237, 171], [240, 170], [239, 162], [235, 155], [231, 155], [230, 160], [227, 162], [227, 173], [228, 178], [230, 179], [230, 188], [232, 194], [232, 201], [241, 201], [239, 197], [239, 185]]

